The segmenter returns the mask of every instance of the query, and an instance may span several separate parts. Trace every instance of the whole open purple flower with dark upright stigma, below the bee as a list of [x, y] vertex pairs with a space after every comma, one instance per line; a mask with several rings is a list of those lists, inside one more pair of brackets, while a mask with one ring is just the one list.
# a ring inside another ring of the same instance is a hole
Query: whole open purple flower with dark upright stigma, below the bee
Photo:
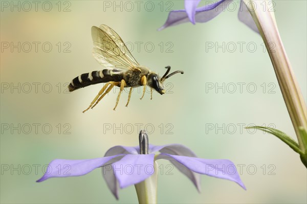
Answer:
[[[160, 151], [161, 154], [155, 155], [154, 153], [157, 151]], [[108, 188], [118, 199], [119, 187], [125, 188], [139, 184], [152, 174], [157, 173], [158, 169], [154, 167], [154, 163], [159, 159], [169, 160], [193, 182], [199, 191], [200, 174], [227, 179], [246, 189], [231, 161], [197, 158], [189, 148], [180, 144], [148, 145], [148, 136], [145, 131], [140, 132], [140, 146], [114, 146], [108, 149], [102, 158], [53, 160], [45, 175], [37, 182], [45, 181], [51, 177], [80, 176], [96, 168], [102, 168]]]

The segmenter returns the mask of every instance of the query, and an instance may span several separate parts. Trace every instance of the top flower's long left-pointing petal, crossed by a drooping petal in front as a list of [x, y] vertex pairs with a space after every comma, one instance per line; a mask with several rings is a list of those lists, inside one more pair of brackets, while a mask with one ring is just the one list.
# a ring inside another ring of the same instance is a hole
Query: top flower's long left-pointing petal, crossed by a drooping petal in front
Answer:
[[[230, 2], [230, 1], [233, 1], [233, 0], [219, 0], [219, 1], [216, 1], [215, 3], [208, 4], [200, 8], [196, 8], [195, 9], [195, 12], [196, 12], [195, 21], [196, 22], [207, 22], [211, 20], [212, 18], [214, 18], [215, 16], [217, 16], [223, 11], [226, 8], [227, 2]], [[159, 28], [158, 30], [161, 31], [172, 25], [178, 25], [184, 22], [188, 22], [189, 21], [188, 15], [190, 14], [187, 14], [186, 10], [171, 11], [169, 12], [167, 20], [164, 23], [164, 25], [162, 25], [162, 27]]]

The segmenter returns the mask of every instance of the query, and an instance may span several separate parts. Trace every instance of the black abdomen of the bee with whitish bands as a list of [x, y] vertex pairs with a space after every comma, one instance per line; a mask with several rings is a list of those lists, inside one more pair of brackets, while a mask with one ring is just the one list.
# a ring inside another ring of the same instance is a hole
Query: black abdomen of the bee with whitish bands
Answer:
[[69, 91], [104, 82], [120, 82], [123, 79], [122, 70], [103, 69], [100, 71], [91, 71], [82, 73], [79, 77], [73, 79], [68, 85]]

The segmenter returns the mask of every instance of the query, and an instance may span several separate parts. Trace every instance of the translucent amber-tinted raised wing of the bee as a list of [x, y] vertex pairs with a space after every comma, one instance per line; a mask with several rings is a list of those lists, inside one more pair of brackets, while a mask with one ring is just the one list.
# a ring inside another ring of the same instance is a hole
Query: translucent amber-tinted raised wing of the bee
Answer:
[[121, 37], [107, 25], [92, 27], [93, 55], [105, 68], [129, 70], [139, 66]]

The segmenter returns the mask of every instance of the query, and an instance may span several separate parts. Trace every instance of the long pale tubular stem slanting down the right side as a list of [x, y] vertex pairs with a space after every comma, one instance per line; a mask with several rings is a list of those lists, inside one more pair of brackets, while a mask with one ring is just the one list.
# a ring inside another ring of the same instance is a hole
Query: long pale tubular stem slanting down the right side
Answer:
[[[263, 4], [264, 1], [244, 0], [244, 3], [248, 5], [248, 9], [266, 44], [284, 102], [286, 103], [294, 126], [299, 148], [305, 152], [306, 147], [302, 141], [303, 139], [299, 129], [301, 127], [307, 130], [306, 105], [291, 68], [286, 50], [284, 50], [274, 13], [263, 11], [263, 7], [260, 4]], [[268, 1], [265, 1], [265, 3], [267, 4], [265, 8], [269, 8]], [[274, 49], [271, 49], [272, 45], [274, 45]]]

